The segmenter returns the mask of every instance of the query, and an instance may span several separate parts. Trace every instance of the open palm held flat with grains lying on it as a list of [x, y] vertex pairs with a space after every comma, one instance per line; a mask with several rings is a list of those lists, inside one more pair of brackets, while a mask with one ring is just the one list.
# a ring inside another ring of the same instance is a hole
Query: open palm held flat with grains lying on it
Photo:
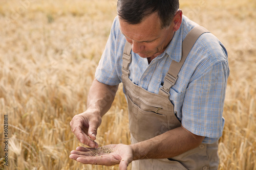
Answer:
[[133, 152], [130, 145], [110, 144], [98, 149], [77, 147], [75, 151], [71, 151], [69, 157], [84, 164], [105, 166], [119, 164], [120, 170], [126, 170], [133, 161]]

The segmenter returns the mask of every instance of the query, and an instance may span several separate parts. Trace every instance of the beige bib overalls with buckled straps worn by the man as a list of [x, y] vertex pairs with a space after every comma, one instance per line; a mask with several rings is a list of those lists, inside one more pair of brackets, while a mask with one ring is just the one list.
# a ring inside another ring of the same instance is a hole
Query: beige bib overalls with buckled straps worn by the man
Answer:
[[[181, 126], [169, 100], [169, 90], [175, 84], [178, 73], [198, 37], [208, 32], [203, 27], [192, 29], [182, 43], [181, 61], [172, 61], [164, 78], [163, 87], [155, 94], [137, 86], [129, 79], [132, 62], [131, 45], [126, 42], [123, 52], [122, 83], [129, 109], [131, 142], [153, 138]], [[132, 169], [218, 169], [218, 142], [200, 144], [199, 147], [181, 155], [166, 159], [142, 159], [132, 162]]]

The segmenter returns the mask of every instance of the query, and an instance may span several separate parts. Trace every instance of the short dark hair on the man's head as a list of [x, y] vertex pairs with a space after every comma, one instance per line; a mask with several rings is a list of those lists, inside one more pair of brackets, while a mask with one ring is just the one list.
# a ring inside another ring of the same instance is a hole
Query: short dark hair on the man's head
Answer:
[[161, 27], [168, 27], [179, 9], [179, 0], [118, 0], [120, 19], [130, 24], [140, 23], [146, 16], [158, 12]]

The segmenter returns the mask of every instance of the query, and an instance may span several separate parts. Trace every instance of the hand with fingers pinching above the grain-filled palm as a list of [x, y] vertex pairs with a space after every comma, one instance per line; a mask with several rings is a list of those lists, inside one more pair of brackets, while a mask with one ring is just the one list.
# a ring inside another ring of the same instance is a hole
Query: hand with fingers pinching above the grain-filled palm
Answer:
[[[70, 122], [71, 130], [76, 138], [83, 144], [98, 148], [96, 139], [97, 129], [101, 124], [101, 116], [92, 110], [75, 115]], [[89, 137], [88, 137], [89, 136]]]

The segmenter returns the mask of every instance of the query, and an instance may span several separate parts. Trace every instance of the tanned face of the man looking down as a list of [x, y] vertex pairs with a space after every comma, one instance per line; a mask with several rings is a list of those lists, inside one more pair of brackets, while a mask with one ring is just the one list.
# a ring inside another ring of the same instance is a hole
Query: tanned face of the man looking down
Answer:
[[127, 42], [132, 45], [133, 52], [150, 60], [164, 52], [170, 40], [172, 40], [174, 32], [178, 30], [174, 28], [175, 22], [172, 22], [167, 28], [161, 28], [157, 13], [146, 17], [137, 25], [126, 23], [120, 18], [119, 23], [120, 30]]

